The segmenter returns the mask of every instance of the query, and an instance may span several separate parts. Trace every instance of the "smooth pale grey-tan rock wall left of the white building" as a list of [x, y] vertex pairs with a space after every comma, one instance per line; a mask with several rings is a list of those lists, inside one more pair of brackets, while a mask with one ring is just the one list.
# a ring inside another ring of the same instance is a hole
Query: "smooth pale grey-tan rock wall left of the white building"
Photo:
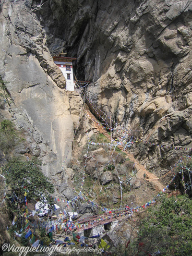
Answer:
[[[31, 0], [1, 1], [0, 24], [0, 75], [11, 97], [1, 114], [26, 133], [30, 147], [21, 152], [41, 158], [44, 173], [63, 192], [67, 177], [61, 164], [72, 156], [73, 123], [77, 124], [81, 97], [75, 96], [76, 112], [71, 114], [65, 78], [52, 59]], [[69, 194], [68, 199], [73, 192]]]

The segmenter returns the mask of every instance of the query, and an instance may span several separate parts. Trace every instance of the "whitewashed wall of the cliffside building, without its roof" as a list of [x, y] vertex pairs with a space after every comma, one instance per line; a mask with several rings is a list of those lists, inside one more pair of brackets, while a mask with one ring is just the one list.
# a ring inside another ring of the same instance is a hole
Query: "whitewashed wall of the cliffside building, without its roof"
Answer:
[[[66, 90], [67, 91], [74, 91], [74, 81], [73, 81], [73, 72], [72, 67], [71, 70], [66, 70], [66, 67], [62, 67], [62, 65], [70, 65], [72, 66], [72, 62], [61, 62], [61, 61], [55, 61], [55, 64], [57, 64], [60, 67], [61, 72], [63, 73], [65, 79], [66, 79]], [[67, 79], [67, 74], [70, 74], [70, 80]]]

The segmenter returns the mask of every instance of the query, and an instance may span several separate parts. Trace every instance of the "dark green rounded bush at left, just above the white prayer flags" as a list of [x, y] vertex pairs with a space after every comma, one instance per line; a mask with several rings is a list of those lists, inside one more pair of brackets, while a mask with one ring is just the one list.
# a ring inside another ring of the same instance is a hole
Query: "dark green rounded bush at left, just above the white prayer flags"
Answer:
[[36, 158], [22, 161], [19, 158], [11, 159], [3, 168], [6, 184], [10, 187], [12, 202], [8, 199], [12, 212], [19, 214], [25, 205], [24, 197], [27, 192], [27, 200], [47, 201], [50, 206], [54, 204], [49, 193], [54, 192], [53, 185], [41, 172], [41, 162]]

